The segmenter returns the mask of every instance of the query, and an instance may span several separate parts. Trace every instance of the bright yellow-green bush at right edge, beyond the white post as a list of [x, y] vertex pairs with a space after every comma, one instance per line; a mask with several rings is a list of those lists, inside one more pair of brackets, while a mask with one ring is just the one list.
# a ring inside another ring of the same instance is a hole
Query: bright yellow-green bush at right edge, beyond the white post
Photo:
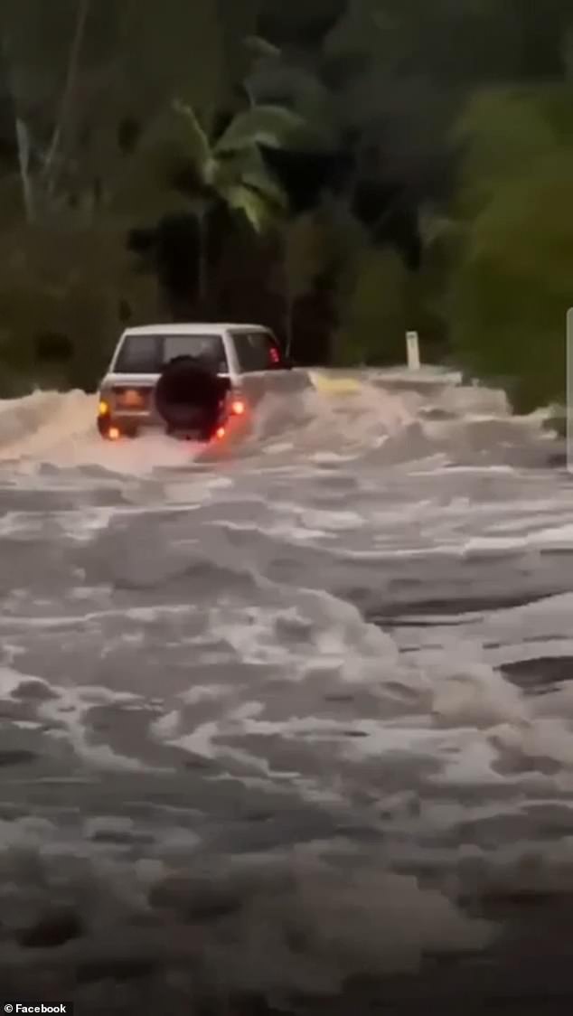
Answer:
[[507, 379], [521, 410], [565, 397], [572, 206], [573, 148], [498, 187], [469, 230], [453, 278], [454, 351], [482, 377]]

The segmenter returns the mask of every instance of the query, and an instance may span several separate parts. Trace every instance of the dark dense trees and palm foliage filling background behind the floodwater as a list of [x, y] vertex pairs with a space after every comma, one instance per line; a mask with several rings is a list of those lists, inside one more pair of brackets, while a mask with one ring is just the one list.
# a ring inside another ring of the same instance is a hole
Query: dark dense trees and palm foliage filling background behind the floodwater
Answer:
[[564, 389], [570, 0], [1, 0], [0, 394], [118, 330]]

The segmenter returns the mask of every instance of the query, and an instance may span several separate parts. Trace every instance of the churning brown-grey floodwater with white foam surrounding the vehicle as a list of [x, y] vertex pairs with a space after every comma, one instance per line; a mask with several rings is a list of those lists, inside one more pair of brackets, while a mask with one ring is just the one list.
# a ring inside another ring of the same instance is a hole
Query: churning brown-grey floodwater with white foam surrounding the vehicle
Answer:
[[0, 403], [14, 1001], [571, 1011], [571, 478], [500, 393], [398, 380], [208, 456]]

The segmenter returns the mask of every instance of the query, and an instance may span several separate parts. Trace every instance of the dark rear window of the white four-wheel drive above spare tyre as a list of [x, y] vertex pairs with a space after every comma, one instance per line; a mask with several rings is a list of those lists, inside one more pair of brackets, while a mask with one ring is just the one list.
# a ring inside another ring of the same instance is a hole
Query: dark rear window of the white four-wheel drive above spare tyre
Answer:
[[118, 374], [160, 374], [178, 357], [199, 357], [217, 374], [229, 371], [220, 335], [126, 335], [114, 364]]

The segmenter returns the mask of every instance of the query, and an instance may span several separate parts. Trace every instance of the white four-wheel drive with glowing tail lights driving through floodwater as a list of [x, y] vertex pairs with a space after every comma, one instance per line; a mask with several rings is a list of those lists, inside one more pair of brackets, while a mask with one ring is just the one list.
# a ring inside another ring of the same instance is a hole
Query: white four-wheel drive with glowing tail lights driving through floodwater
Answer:
[[128, 328], [100, 385], [104, 438], [161, 428], [174, 437], [222, 437], [247, 422], [267, 393], [289, 395], [311, 382], [294, 370], [272, 332], [247, 324], [161, 324]]

